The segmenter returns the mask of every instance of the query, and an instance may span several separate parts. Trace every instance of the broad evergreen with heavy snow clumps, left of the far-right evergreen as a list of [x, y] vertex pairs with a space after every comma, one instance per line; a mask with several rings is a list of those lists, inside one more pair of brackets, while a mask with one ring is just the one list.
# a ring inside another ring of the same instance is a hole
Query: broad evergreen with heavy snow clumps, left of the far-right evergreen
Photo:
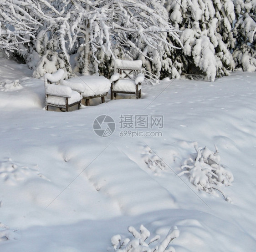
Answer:
[[171, 55], [179, 72], [191, 73], [192, 69], [214, 81], [234, 70], [230, 48], [235, 12], [231, 0], [166, 0], [166, 8], [174, 27], [183, 31], [180, 40], [184, 48]]

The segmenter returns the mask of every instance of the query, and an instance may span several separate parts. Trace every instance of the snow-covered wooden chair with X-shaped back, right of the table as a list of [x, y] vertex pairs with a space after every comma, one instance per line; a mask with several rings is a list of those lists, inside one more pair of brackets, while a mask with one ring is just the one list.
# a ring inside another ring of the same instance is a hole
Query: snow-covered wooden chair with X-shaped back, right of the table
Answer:
[[141, 60], [115, 60], [115, 73], [111, 76], [110, 98], [120, 94], [134, 94], [136, 99], [141, 97], [141, 85], [144, 75], [141, 73]]

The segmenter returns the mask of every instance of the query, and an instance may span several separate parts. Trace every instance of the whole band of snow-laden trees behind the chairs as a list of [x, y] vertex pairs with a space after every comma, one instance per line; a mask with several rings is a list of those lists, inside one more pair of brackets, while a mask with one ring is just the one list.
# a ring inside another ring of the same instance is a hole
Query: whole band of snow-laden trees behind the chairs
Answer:
[[[34, 76], [111, 75], [140, 59], [148, 76], [256, 71], [256, 0], [1, 0], [0, 49]], [[70, 60], [72, 59], [72, 60]]]

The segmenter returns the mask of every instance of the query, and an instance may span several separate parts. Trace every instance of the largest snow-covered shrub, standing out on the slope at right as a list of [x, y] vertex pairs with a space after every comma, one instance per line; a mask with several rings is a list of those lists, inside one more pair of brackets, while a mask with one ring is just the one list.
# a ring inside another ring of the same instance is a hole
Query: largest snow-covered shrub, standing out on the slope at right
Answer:
[[233, 174], [225, 166], [220, 164], [220, 155], [215, 146], [215, 151], [207, 147], [201, 148], [195, 146], [196, 153], [184, 161], [181, 169], [186, 169], [179, 173], [179, 176], [188, 174], [189, 181], [196, 186], [198, 190], [203, 190], [210, 194], [219, 191], [226, 201], [230, 202], [230, 197], [225, 197], [220, 190], [221, 186], [229, 186], [234, 180]]

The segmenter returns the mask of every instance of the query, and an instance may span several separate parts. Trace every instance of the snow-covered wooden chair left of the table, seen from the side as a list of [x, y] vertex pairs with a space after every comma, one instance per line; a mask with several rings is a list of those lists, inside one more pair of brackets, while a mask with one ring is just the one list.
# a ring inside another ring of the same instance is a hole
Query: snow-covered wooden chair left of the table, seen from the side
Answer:
[[59, 69], [54, 74], [44, 75], [46, 110], [49, 106], [68, 111], [68, 108], [78, 105], [81, 107], [82, 92], [84, 87], [80, 83], [63, 80], [64, 70]]

